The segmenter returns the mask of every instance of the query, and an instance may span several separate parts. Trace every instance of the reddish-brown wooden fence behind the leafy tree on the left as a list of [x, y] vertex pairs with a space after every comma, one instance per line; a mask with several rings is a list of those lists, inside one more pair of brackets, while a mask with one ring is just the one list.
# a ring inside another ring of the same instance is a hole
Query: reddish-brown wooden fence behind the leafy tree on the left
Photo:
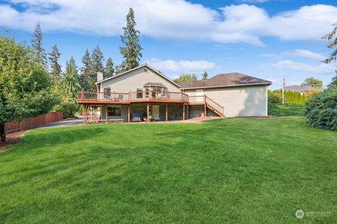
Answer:
[[36, 116], [34, 118], [28, 118], [20, 123], [8, 123], [6, 124], [5, 130], [6, 132], [16, 132], [27, 129], [32, 129], [34, 127], [40, 127], [42, 125], [46, 125], [48, 123], [53, 123], [55, 121], [63, 120], [62, 112], [50, 112], [47, 114], [42, 114], [40, 116]]

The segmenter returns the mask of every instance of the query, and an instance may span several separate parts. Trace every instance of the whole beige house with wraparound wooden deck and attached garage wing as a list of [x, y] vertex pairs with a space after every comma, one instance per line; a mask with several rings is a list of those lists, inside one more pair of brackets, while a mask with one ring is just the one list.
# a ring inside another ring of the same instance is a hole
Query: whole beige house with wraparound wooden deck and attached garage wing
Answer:
[[267, 116], [267, 86], [242, 73], [178, 84], [143, 64], [103, 79], [98, 92], [79, 92], [84, 123], [185, 120], [197, 116]]

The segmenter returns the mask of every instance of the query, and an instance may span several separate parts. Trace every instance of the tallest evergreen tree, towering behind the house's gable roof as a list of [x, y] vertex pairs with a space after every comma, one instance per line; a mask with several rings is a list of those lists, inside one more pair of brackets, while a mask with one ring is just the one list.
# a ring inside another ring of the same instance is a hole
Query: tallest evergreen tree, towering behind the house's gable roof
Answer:
[[135, 13], [132, 8], [128, 10], [128, 15], [126, 15], [126, 27], [123, 27], [123, 30], [124, 34], [121, 36], [121, 41], [124, 47], [119, 47], [119, 50], [124, 57], [124, 61], [121, 62], [119, 66], [119, 72], [136, 68], [136, 66], [139, 66], [140, 57], [143, 57], [140, 52], [143, 50], [139, 41], [140, 31], [136, 29]]

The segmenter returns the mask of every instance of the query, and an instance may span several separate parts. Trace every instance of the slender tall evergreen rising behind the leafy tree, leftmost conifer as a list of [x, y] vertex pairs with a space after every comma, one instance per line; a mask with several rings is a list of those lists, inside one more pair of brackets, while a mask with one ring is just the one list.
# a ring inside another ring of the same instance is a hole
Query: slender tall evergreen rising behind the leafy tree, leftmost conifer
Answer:
[[37, 23], [37, 26], [34, 29], [32, 48], [37, 63], [43, 66], [47, 66], [46, 50], [42, 48], [42, 29], [39, 23]]

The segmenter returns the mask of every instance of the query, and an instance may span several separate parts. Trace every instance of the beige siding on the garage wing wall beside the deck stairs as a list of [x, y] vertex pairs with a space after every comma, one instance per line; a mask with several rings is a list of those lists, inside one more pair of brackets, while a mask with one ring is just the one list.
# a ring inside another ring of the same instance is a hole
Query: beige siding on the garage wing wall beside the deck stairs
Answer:
[[[195, 95], [195, 90], [185, 90]], [[266, 116], [266, 86], [251, 85], [204, 89], [204, 94], [225, 107], [225, 116]]]

